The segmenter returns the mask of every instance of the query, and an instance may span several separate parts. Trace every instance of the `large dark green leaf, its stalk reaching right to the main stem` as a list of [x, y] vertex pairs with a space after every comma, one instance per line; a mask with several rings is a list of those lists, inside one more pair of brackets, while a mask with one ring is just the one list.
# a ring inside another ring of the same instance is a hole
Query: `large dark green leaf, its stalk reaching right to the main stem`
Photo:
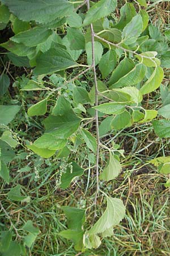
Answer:
[[51, 48], [37, 57], [35, 75], [47, 75], [66, 68], [76, 67], [77, 64], [71, 55], [62, 47]]

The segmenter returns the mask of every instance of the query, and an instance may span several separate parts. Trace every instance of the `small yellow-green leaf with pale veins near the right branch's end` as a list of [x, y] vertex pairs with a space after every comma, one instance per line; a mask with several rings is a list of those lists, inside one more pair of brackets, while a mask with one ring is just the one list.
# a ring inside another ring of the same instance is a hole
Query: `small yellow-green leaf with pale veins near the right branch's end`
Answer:
[[155, 58], [158, 52], [143, 52], [140, 55], [135, 55], [139, 61], [147, 67], [156, 67], [160, 65], [160, 60]]

